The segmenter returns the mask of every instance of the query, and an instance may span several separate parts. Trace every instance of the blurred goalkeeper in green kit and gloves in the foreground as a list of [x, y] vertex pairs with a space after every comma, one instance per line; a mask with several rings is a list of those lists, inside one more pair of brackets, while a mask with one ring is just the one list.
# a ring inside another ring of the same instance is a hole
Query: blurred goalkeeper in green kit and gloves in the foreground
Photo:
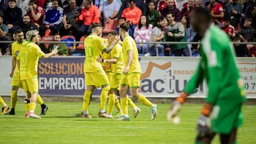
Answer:
[[191, 26], [202, 36], [201, 60], [196, 73], [173, 102], [167, 118], [173, 120], [187, 96], [206, 79], [208, 94], [198, 118], [196, 143], [210, 143], [216, 133], [220, 134], [223, 144], [237, 143], [235, 138], [242, 124], [241, 107], [246, 100], [245, 89], [228, 35], [210, 23], [208, 9], [198, 7], [192, 12]]

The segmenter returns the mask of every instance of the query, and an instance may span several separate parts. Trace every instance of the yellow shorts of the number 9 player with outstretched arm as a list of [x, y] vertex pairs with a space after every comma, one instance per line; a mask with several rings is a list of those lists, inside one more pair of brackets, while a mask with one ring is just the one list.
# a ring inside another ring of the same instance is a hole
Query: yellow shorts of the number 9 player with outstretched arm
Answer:
[[31, 78], [31, 79], [23, 79], [21, 80], [23, 84], [24, 92], [35, 93], [38, 92], [38, 78]]

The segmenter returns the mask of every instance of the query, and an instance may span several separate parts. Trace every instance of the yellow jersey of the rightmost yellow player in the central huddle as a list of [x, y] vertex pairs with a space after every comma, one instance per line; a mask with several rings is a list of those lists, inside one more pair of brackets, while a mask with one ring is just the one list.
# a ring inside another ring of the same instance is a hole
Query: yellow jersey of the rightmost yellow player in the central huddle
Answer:
[[133, 51], [134, 55], [132, 57], [131, 65], [129, 66], [128, 74], [134, 73], [134, 72], [142, 73], [142, 68], [139, 64], [139, 54], [138, 54], [136, 43], [131, 36], [127, 35], [127, 37], [124, 38], [122, 43], [122, 51], [124, 55], [124, 67], [128, 61], [128, 52], [131, 50]]

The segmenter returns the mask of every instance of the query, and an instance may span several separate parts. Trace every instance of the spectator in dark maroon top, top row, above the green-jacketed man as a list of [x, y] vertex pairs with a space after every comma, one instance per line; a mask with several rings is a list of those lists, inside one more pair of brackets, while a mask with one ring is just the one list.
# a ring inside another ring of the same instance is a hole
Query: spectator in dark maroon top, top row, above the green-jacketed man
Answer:
[[174, 0], [168, 0], [167, 1], [168, 6], [166, 9], [161, 11], [161, 16], [166, 17], [168, 13], [174, 13], [175, 20], [174, 21], [181, 21], [181, 11], [179, 11], [175, 6]]

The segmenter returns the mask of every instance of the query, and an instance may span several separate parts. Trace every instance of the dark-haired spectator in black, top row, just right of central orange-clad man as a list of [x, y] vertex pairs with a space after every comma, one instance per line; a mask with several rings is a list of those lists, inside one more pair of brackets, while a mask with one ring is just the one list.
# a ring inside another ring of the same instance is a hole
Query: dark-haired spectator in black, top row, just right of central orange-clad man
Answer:
[[156, 20], [156, 18], [159, 18], [160, 14], [159, 14], [159, 11], [156, 11], [155, 9], [156, 4], [154, 3], [154, 0], [149, 1], [148, 6], [149, 6], [149, 9], [146, 10], [144, 15], [148, 17], [149, 23], [151, 25], [154, 25], [154, 21]]

